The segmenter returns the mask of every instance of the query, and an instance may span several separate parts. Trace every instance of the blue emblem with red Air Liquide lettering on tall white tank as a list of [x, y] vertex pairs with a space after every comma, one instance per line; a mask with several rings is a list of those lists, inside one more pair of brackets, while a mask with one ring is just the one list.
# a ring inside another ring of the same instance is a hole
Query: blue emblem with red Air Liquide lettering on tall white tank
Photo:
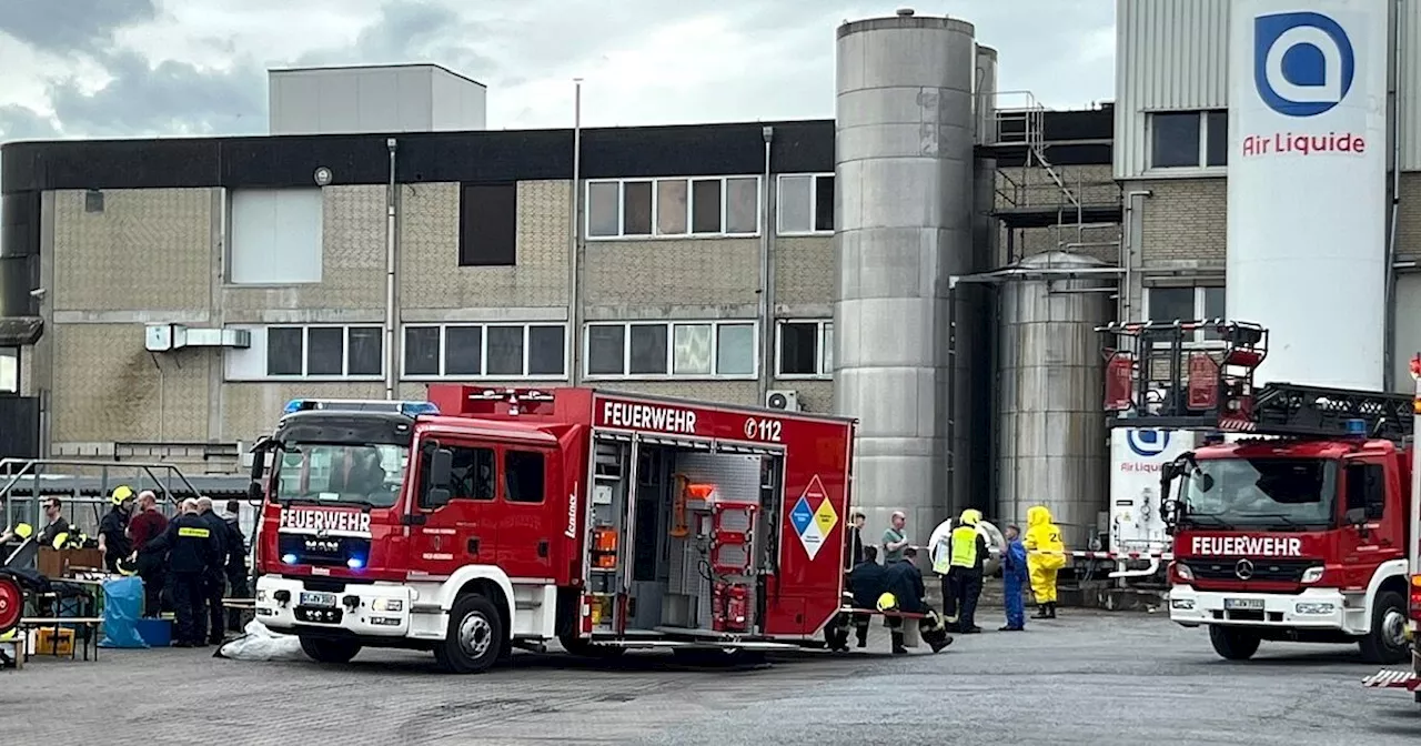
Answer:
[[[1306, 121], [1326, 114], [1351, 92], [1357, 55], [1334, 18], [1314, 11], [1253, 18], [1253, 87], [1269, 109]], [[1367, 141], [1347, 131], [1262, 132], [1243, 138], [1243, 155], [1358, 155]]]

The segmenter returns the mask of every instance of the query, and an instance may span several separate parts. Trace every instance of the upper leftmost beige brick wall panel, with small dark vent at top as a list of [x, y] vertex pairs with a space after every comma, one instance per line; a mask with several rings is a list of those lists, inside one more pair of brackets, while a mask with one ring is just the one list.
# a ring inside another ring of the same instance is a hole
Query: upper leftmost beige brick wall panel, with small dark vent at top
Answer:
[[212, 288], [210, 189], [54, 193], [55, 311], [205, 310]]

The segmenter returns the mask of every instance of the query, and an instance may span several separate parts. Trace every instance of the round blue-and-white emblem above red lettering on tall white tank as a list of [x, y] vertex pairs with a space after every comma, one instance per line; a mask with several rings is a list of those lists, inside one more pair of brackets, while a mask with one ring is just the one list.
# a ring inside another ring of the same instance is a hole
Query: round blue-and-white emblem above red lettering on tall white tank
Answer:
[[1317, 117], [1341, 104], [1357, 72], [1351, 40], [1322, 13], [1253, 18], [1253, 85], [1285, 117]]

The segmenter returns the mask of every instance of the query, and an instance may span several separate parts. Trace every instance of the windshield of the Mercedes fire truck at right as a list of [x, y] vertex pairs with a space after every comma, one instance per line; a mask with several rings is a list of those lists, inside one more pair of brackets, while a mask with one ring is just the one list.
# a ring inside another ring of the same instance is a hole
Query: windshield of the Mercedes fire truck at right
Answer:
[[1333, 524], [1337, 463], [1329, 459], [1201, 459], [1185, 482], [1184, 523], [1317, 530]]

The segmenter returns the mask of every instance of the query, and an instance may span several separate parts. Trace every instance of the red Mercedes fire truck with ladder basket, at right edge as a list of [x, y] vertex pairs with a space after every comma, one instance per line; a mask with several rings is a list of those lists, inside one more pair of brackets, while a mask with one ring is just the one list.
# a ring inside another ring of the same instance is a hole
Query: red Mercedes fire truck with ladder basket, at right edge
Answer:
[[[1253, 385], [1268, 331], [1228, 321], [1101, 327], [1111, 426], [1204, 431], [1161, 473], [1174, 536], [1169, 618], [1214, 649], [1263, 641], [1356, 642], [1373, 662], [1412, 658], [1421, 620], [1421, 398]], [[1202, 333], [1209, 340], [1192, 342]], [[1418, 364], [1421, 365], [1421, 364]], [[1418, 394], [1421, 396], [1421, 394]]]

